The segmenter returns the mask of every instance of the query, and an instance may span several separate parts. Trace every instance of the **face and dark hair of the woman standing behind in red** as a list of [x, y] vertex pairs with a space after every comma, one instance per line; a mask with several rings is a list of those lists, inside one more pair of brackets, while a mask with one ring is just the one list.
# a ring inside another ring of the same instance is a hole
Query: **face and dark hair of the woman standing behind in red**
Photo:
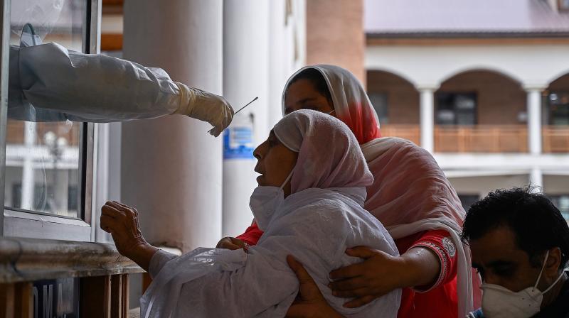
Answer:
[[[314, 84], [309, 79], [299, 79], [289, 85], [285, 95], [285, 115], [299, 109], [312, 109], [323, 113], [334, 111], [334, 106], [330, 104], [323, 94], [320, 94]], [[336, 112], [331, 112], [336, 116]]]

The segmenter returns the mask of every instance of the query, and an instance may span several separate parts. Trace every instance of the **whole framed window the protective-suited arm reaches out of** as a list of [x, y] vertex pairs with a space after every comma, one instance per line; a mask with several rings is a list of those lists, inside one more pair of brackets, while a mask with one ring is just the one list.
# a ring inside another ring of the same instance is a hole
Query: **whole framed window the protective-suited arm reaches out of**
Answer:
[[[57, 42], [92, 52], [96, 6], [89, 0], [11, 1], [10, 45]], [[9, 108], [5, 126], [4, 236], [91, 241], [93, 124], [50, 121], [49, 111], [33, 105], [16, 112]]]

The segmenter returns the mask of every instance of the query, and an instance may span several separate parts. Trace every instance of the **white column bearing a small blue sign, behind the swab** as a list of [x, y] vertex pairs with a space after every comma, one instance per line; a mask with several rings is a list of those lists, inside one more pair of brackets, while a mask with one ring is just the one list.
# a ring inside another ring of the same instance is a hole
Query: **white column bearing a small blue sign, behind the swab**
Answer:
[[[237, 236], [251, 224], [249, 197], [257, 187], [252, 151], [269, 136], [269, 1], [223, 2], [223, 94], [235, 108], [259, 99], [235, 116], [225, 132], [223, 160], [223, 236]], [[252, 129], [252, 138], [233, 138]], [[234, 148], [230, 152], [228, 148]]]

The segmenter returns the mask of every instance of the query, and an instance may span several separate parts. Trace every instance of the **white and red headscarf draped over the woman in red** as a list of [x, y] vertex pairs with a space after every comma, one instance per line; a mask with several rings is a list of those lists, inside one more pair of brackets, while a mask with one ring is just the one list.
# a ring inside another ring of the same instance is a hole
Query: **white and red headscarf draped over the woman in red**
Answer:
[[[474, 308], [470, 251], [459, 238], [464, 209], [445, 173], [426, 150], [400, 138], [380, 138], [376, 111], [361, 83], [351, 72], [334, 65], [303, 67], [318, 70], [326, 80], [336, 116], [358, 138], [373, 185], [367, 188], [365, 208], [376, 216], [393, 238], [403, 238], [427, 230], [442, 229], [452, 236], [457, 247], [457, 293], [459, 317]], [[293, 113], [294, 114], [294, 113]]]

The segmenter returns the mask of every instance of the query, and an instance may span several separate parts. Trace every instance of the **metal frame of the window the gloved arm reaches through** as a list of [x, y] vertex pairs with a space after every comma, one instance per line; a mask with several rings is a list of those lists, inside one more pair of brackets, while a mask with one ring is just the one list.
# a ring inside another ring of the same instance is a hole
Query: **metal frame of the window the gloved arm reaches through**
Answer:
[[[85, 0], [83, 16], [83, 52], [98, 53], [100, 38], [101, 0]], [[11, 0], [0, 3], [4, 17], [1, 26], [0, 73], [0, 204], [4, 207], [6, 179], [6, 128], [8, 100], [8, 63]], [[6, 18], [7, 17], [7, 18]], [[60, 239], [67, 241], [95, 241], [93, 227], [97, 224], [93, 213], [92, 194], [95, 164], [95, 124], [80, 124], [79, 180], [80, 202], [78, 218], [26, 211], [4, 207], [0, 215], [0, 236]]]

